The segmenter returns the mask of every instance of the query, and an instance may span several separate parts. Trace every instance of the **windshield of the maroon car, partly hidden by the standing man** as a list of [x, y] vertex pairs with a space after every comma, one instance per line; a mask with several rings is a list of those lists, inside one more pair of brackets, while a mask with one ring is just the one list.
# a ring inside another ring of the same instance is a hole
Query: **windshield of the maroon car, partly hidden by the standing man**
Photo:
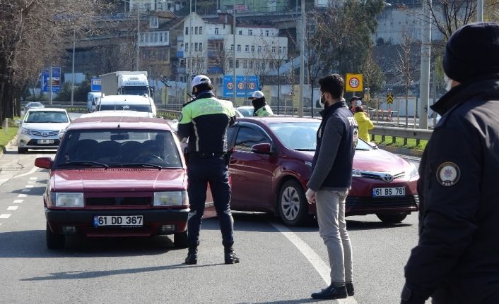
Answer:
[[[270, 123], [269, 128], [288, 149], [315, 151], [320, 123], [320, 121]], [[372, 150], [372, 147], [367, 142], [358, 140], [356, 150]]]

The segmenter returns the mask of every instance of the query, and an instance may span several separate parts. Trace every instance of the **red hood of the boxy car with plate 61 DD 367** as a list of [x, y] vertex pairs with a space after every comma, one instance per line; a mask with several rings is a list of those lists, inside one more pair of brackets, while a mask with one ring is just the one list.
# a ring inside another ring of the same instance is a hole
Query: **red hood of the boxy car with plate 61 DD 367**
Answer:
[[184, 169], [65, 169], [52, 176], [57, 192], [119, 192], [184, 190]]

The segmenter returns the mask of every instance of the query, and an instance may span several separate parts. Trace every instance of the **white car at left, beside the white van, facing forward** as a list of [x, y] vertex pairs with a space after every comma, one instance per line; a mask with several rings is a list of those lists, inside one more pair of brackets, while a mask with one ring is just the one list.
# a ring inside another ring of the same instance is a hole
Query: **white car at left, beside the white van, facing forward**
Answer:
[[71, 123], [65, 109], [34, 108], [26, 112], [17, 133], [18, 153], [28, 149], [57, 149], [59, 133]]

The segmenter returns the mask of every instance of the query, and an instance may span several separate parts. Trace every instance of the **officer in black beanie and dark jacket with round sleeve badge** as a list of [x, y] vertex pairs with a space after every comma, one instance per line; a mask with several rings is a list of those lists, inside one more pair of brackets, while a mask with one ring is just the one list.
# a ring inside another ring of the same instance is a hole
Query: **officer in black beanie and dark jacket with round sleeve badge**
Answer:
[[419, 242], [401, 303], [499, 303], [499, 25], [459, 28], [445, 48], [450, 88], [421, 159]]

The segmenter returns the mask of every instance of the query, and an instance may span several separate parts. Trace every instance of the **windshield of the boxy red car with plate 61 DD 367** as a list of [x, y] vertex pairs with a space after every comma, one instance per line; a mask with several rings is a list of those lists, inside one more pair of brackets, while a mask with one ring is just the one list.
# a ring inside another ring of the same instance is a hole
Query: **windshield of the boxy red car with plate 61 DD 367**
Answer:
[[56, 166], [81, 168], [181, 168], [177, 145], [167, 130], [69, 130], [59, 147]]

